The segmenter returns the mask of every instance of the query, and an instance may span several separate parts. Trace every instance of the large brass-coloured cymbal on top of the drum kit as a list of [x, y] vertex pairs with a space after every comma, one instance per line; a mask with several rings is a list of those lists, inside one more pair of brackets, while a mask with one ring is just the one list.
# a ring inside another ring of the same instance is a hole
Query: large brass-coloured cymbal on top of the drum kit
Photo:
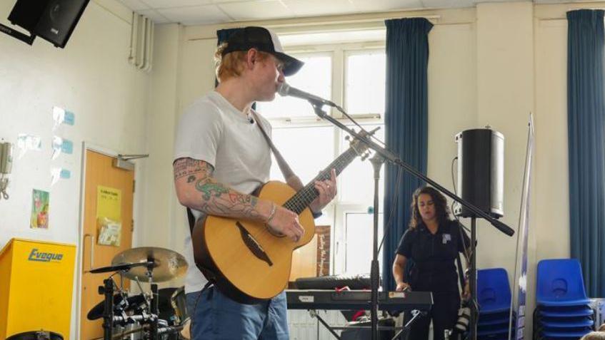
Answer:
[[[164, 282], [181, 277], [187, 271], [187, 262], [183, 255], [170, 249], [159, 247], [138, 247], [124, 250], [111, 260], [111, 264], [154, 262], [151, 281]], [[129, 279], [139, 278], [146, 281], [147, 268], [136, 267], [124, 273]]]

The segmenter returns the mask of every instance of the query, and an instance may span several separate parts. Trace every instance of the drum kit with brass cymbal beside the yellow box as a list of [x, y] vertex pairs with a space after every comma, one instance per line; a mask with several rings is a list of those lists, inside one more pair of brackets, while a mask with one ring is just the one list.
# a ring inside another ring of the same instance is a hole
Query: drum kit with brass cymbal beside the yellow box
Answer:
[[[117, 254], [111, 266], [91, 273], [113, 273], [99, 286], [104, 300], [88, 313], [89, 320], [103, 319], [103, 337], [95, 340], [189, 339], [189, 319], [184, 288], [158, 289], [158, 282], [181, 277], [187, 269], [184, 257], [159, 247], [139, 247]], [[118, 274], [120, 284], [114, 281]], [[139, 294], [128, 294], [124, 278], [136, 282]], [[149, 292], [141, 281], [150, 285]]]

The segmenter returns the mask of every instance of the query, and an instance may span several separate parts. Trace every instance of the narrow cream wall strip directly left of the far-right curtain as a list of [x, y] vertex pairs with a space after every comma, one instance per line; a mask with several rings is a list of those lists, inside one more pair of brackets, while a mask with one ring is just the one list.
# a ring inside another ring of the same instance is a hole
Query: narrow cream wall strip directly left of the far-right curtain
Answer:
[[567, 20], [569, 6], [536, 6], [536, 260], [569, 257]]

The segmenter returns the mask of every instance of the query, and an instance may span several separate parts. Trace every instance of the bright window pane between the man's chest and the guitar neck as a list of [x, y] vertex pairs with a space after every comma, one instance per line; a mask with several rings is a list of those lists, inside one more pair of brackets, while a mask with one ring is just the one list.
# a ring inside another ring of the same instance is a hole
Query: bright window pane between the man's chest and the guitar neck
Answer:
[[[272, 140], [304, 185], [334, 160], [334, 128], [279, 128]], [[271, 180], [284, 180], [274, 158]]]

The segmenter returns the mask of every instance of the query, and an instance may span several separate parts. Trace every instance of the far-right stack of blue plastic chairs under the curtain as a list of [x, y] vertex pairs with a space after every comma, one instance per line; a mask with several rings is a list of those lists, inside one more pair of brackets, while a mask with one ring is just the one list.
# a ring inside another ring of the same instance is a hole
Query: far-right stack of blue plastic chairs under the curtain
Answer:
[[536, 278], [534, 339], [579, 339], [594, 328], [577, 259], [543, 259]]

